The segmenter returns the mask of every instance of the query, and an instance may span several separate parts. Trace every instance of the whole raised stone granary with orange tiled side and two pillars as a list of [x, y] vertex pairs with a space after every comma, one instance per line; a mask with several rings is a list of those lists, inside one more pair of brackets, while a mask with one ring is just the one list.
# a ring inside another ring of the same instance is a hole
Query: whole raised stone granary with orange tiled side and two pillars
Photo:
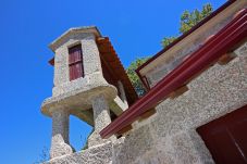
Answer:
[[70, 114], [95, 127], [88, 146], [99, 144], [106, 142], [99, 131], [137, 94], [111, 42], [96, 27], [71, 28], [50, 48], [55, 53], [50, 61], [54, 65], [54, 87], [52, 97], [42, 103], [42, 113], [52, 117], [50, 156], [57, 157], [73, 152], [69, 143]]

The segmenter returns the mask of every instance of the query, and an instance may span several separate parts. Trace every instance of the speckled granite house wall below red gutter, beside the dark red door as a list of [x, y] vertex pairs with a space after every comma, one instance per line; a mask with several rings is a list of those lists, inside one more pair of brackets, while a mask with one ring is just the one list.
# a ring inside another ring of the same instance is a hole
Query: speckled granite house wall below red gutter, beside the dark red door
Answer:
[[160, 103], [157, 113], [115, 146], [115, 164], [214, 163], [196, 128], [247, 104], [247, 43], [226, 65], [214, 64], [189, 90]]

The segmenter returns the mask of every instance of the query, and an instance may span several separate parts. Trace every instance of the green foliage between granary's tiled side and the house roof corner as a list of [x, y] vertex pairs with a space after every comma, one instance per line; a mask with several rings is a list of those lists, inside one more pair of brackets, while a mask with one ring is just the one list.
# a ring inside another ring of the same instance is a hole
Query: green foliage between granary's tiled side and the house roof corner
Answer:
[[131, 65], [126, 70], [127, 76], [131, 79], [132, 85], [134, 86], [139, 97], [144, 96], [146, 91], [135, 70], [139, 67], [141, 64], [144, 64], [148, 59], [149, 56], [136, 59], [134, 62], [131, 63]]

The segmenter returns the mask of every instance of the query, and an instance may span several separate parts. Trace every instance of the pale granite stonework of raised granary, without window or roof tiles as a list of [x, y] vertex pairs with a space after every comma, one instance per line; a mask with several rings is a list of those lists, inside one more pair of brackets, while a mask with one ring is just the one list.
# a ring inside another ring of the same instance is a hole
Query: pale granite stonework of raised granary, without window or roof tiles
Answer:
[[[42, 102], [41, 112], [52, 116], [53, 121], [51, 159], [73, 152], [69, 143], [70, 114], [96, 126], [89, 138], [89, 147], [115, 139], [111, 137], [109, 140], [102, 140], [99, 131], [111, 123], [109, 104], [116, 114], [122, 113], [122, 108], [126, 106], [119, 101], [121, 99], [116, 97], [116, 88], [103, 78], [96, 43], [96, 37], [99, 36], [96, 27], [72, 28], [50, 46], [55, 52], [54, 87], [52, 97]], [[70, 81], [69, 48], [76, 45], [82, 46], [85, 76]]]

